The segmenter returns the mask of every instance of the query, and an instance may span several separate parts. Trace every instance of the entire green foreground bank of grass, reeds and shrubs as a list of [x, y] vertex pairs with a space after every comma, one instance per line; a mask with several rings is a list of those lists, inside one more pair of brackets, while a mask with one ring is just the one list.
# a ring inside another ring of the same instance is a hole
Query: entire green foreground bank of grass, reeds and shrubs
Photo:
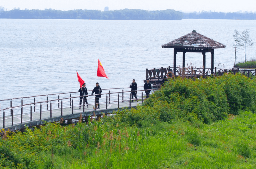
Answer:
[[255, 84], [239, 73], [177, 78], [115, 116], [6, 131], [0, 168], [255, 168]]

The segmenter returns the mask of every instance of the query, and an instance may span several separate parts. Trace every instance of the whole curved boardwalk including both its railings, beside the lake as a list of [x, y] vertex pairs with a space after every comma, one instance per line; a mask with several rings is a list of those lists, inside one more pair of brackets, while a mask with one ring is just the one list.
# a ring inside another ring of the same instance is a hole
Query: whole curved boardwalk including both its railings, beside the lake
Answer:
[[[94, 113], [96, 117], [100, 117], [103, 114], [111, 114], [124, 107], [128, 109], [135, 108], [147, 99], [145, 98], [144, 90], [138, 89], [138, 102], [136, 102], [135, 98], [134, 100], [131, 99], [130, 88], [111, 89], [114, 92], [110, 92], [110, 89], [105, 90], [109, 90], [109, 92], [105, 91], [104, 94], [101, 94], [99, 100], [100, 109], [96, 110], [94, 109], [96, 107], [95, 95], [88, 95], [87, 97], [89, 108], [86, 108], [86, 104], [82, 103], [82, 107], [79, 109], [78, 92], [72, 92], [75, 93], [74, 97], [71, 96], [72, 93], [62, 93], [52, 94], [52, 97], [47, 95], [46, 98], [46, 95], [43, 95], [0, 100], [0, 129], [22, 130], [26, 127], [60, 121], [61, 118], [68, 123], [72, 123], [72, 119], [78, 119], [81, 113], [86, 121]], [[154, 90], [157, 90], [157, 88], [153, 89], [152, 92]], [[38, 101], [36, 102], [36, 100]]]

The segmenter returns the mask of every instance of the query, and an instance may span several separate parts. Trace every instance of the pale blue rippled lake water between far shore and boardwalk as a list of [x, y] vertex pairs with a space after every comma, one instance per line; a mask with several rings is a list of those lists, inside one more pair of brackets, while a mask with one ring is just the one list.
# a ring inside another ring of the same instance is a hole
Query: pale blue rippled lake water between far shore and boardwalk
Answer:
[[[133, 78], [143, 86], [146, 68], [173, 67], [173, 49], [161, 45], [192, 30], [226, 45], [214, 50], [214, 66], [232, 68], [234, 30], [250, 29], [255, 41], [255, 28], [256, 20], [0, 19], [0, 100], [78, 91], [76, 71], [88, 90], [98, 81], [102, 88], [129, 87]], [[247, 48], [247, 59], [255, 54], [255, 45]], [[237, 55], [244, 60], [242, 49]], [[186, 53], [186, 65], [201, 67], [202, 57]], [[109, 79], [96, 76], [97, 59]]]

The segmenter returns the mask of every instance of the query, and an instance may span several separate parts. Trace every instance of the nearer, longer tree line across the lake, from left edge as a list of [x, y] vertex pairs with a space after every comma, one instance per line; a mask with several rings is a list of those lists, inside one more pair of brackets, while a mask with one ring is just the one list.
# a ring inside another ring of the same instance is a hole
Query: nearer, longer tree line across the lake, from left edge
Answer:
[[[2, 9], [2, 8], [1, 8]], [[108, 10], [54, 10], [54, 9], [32, 9], [32, 10], [0, 10], [0, 18], [11, 19], [120, 19], [120, 20], [181, 20], [182, 12], [173, 9], [167, 10], [140, 10], [122, 9]]]

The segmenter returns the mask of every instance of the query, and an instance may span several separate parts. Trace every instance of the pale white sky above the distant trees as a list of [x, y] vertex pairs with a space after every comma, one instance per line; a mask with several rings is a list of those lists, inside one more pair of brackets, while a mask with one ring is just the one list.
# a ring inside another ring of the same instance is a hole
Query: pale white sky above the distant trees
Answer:
[[256, 1], [253, 0], [0, 0], [0, 6], [6, 10], [19, 8], [26, 9], [96, 9], [103, 11], [107, 6], [109, 10], [143, 9], [166, 10], [174, 9], [182, 12], [255, 12]]

